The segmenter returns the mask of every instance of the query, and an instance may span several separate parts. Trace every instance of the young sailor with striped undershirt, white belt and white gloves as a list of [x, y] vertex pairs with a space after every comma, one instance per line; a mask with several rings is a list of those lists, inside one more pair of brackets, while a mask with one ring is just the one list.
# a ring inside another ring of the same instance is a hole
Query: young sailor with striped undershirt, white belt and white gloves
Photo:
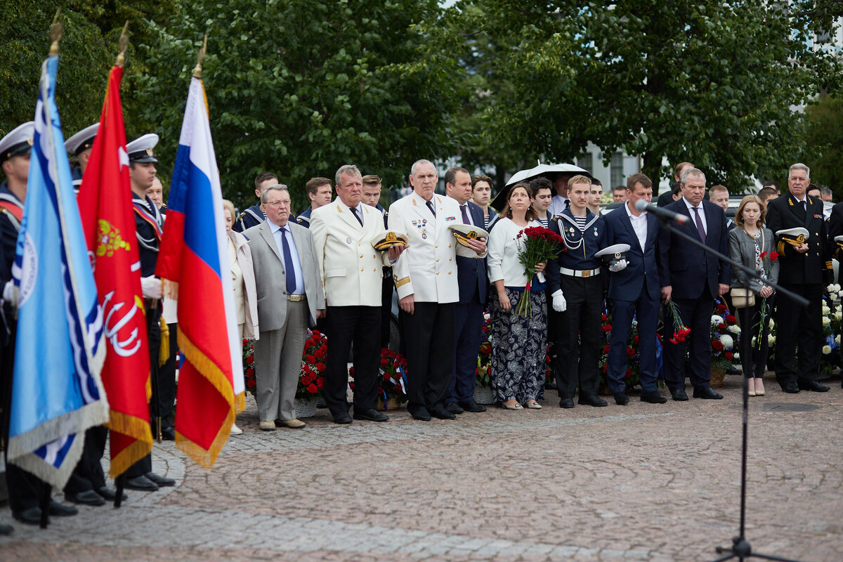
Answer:
[[[573, 408], [579, 383], [579, 404], [605, 406], [597, 395], [600, 384], [600, 318], [603, 313], [601, 260], [594, 254], [604, 248], [606, 226], [588, 209], [591, 179], [576, 175], [568, 180], [571, 205], [550, 220], [550, 230], [558, 233], [565, 251], [550, 260], [547, 279], [553, 309], [560, 317], [556, 350], [562, 367], [557, 381], [559, 407]], [[626, 267], [626, 262], [614, 266]], [[579, 345], [577, 349], [577, 339]]]

